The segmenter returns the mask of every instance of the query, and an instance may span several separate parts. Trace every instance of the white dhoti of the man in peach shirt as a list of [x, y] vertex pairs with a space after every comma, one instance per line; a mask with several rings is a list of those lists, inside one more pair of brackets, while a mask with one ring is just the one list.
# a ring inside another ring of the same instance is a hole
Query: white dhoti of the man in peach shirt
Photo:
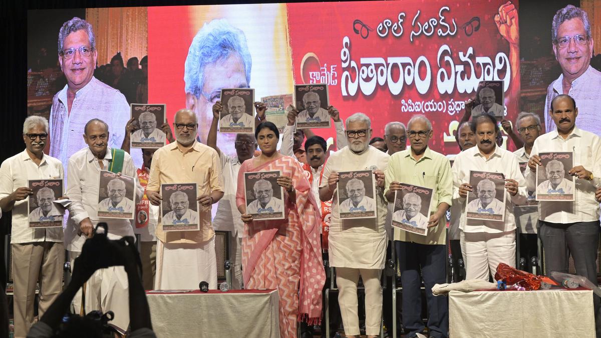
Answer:
[[215, 236], [197, 244], [157, 241], [154, 289], [198, 290], [203, 280], [217, 289]]

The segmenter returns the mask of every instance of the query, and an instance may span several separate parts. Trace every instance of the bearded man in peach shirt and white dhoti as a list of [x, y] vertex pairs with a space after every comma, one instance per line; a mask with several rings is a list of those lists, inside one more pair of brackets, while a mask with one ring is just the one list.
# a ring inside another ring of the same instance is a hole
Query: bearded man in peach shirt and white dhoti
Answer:
[[[159, 220], [154, 288], [198, 289], [198, 283], [204, 280], [209, 283], [210, 289], [216, 289], [217, 262], [211, 206], [224, 195], [219, 155], [196, 140], [198, 119], [193, 111], [182, 109], [176, 112], [173, 126], [176, 142], [154, 153], [146, 195], [150, 203], [159, 205], [163, 200], [159, 193], [161, 185], [196, 183], [198, 206], [191, 209], [198, 210], [200, 230], [165, 231], [165, 220]], [[172, 205], [179, 203], [178, 195], [170, 201]]]

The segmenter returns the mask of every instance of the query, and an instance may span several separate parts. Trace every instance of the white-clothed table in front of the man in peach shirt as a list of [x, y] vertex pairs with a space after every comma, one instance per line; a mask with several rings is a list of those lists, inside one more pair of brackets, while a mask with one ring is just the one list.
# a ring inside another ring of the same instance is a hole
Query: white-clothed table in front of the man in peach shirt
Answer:
[[157, 337], [279, 337], [277, 290], [146, 293]]

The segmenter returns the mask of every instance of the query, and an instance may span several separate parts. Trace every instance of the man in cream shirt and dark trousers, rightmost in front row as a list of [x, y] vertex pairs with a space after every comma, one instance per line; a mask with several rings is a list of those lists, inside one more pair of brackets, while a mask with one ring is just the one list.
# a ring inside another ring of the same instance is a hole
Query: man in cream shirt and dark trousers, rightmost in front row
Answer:
[[[528, 189], [534, 190], [537, 171], [541, 171], [542, 153], [572, 152], [573, 168], [564, 168], [573, 177], [573, 200], [540, 200], [540, 230], [538, 235], [545, 248], [547, 272], [567, 272], [572, 254], [576, 274], [597, 282], [597, 246], [599, 243], [599, 201], [595, 191], [601, 185], [601, 140], [591, 132], [576, 126], [578, 107], [568, 95], [551, 101], [549, 115], [557, 129], [540, 135], [532, 146], [529, 170], [525, 177]], [[551, 163], [551, 162], [549, 162]], [[549, 165], [548, 165], [549, 167]], [[557, 166], [559, 167], [559, 166]], [[543, 176], [542, 174], [540, 176]], [[563, 176], [561, 176], [563, 177]], [[560, 178], [561, 178], [560, 177]], [[538, 193], [537, 193], [538, 198]], [[601, 299], [594, 297], [597, 336], [601, 335]]]

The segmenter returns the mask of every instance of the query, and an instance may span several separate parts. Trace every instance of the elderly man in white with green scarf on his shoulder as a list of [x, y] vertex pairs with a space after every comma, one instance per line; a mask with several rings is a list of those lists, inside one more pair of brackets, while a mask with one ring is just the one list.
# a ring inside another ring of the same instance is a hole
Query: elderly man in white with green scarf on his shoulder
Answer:
[[[111, 148], [107, 146], [108, 128], [101, 120], [91, 120], [87, 124], [85, 138], [88, 147], [79, 150], [69, 158], [69, 179], [67, 196], [72, 200], [69, 206], [69, 221], [65, 229], [65, 242], [72, 260], [81, 254], [86, 236], [92, 235], [92, 229], [100, 222], [108, 226], [108, 238], [120, 239], [133, 236], [132, 220], [97, 217], [100, 170], [108, 170], [113, 158]], [[142, 197], [144, 189], [139, 185], [136, 167], [132, 157], [124, 153], [121, 174], [135, 177], [136, 199]], [[129, 325], [129, 293], [127, 274], [123, 266], [99, 269], [87, 282], [85, 292], [85, 312], [92, 310], [111, 310], [115, 319], [111, 324], [118, 330], [126, 331]], [[81, 295], [73, 298], [75, 312], [81, 309]]]

